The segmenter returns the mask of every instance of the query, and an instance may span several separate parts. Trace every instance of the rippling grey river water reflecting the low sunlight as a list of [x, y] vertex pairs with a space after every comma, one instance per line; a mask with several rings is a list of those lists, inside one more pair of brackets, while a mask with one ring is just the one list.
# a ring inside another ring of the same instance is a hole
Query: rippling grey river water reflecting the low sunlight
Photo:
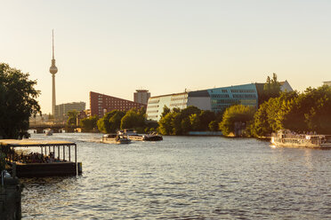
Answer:
[[247, 138], [77, 143], [79, 177], [22, 179], [23, 219], [331, 219], [331, 151]]

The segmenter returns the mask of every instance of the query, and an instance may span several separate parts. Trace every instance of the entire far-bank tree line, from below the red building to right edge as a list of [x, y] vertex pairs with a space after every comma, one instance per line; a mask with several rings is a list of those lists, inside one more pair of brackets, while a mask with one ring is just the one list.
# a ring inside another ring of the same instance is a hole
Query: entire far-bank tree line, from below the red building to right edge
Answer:
[[[280, 91], [277, 75], [268, 76], [259, 106], [235, 105], [214, 113], [196, 106], [170, 109], [164, 106], [159, 122], [146, 120], [145, 109], [113, 110], [101, 119], [82, 120], [83, 131], [113, 133], [135, 129], [139, 133], [157, 131], [165, 136], [188, 136], [190, 132], [222, 131], [224, 137], [268, 139], [278, 130], [296, 133], [331, 134], [331, 87], [307, 88], [303, 92]], [[87, 125], [86, 125], [87, 124]]]

